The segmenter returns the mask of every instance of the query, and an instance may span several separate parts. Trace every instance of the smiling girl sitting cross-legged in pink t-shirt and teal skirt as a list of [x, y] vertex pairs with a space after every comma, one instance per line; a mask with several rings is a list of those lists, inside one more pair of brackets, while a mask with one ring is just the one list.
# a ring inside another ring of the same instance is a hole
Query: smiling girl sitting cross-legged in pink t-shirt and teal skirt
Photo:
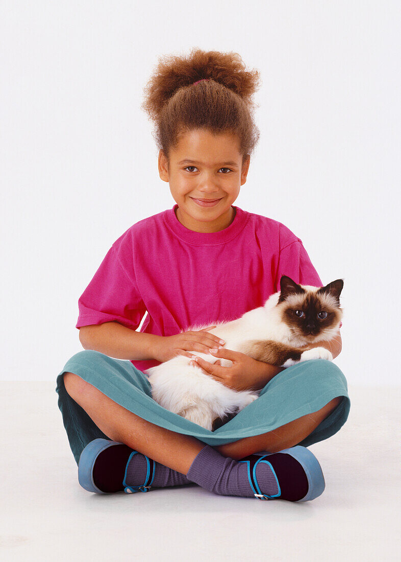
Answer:
[[[64, 365], [56, 391], [85, 490], [196, 483], [220, 495], [288, 501], [324, 490], [306, 446], [347, 420], [343, 373], [323, 359], [278, 368], [222, 347], [208, 332], [264, 305], [283, 274], [323, 285], [291, 230], [233, 205], [259, 139], [250, 99], [258, 85], [259, 72], [246, 71], [237, 53], [193, 49], [159, 61], [145, 88], [160, 178], [176, 204], [128, 228], [79, 299], [84, 351]], [[340, 334], [320, 345], [336, 357]], [[199, 359], [205, 373], [261, 392], [209, 431], [155, 402], [142, 371], [213, 349], [233, 364]]]

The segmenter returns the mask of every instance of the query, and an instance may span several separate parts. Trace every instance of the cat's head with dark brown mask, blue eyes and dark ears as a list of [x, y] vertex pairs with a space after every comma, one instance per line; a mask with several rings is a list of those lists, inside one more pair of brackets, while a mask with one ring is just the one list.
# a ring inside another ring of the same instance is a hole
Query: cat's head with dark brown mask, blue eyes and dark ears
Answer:
[[342, 279], [317, 288], [298, 285], [287, 275], [282, 276], [277, 306], [295, 337], [319, 341], [320, 336], [339, 325], [343, 316], [339, 300], [343, 286]]

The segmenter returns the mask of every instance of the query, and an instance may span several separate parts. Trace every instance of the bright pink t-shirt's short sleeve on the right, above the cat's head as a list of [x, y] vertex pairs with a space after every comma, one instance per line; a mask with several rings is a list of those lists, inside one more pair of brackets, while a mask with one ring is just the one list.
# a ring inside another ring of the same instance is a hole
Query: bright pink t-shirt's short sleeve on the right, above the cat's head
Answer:
[[282, 275], [288, 275], [300, 285], [312, 285], [312, 287], [322, 287], [323, 285], [299, 238], [280, 250], [275, 278], [276, 291], [280, 291]]

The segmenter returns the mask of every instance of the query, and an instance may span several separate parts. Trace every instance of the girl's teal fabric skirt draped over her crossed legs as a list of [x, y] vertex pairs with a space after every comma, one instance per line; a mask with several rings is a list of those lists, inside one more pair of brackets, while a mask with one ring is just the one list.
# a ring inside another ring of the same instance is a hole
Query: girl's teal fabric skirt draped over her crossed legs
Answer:
[[211, 432], [160, 406], [151, 397], [148, 378], [131, 361], [114, 359], [104, 353], [84, 350], [73, 355], [57, 376], [56, 392], [64, 428], [76, 463], [82, 450], [98, 437], [109, 439], [85, 410], [68, 395], [63, 374], [79, 375], [148, 422], [177, 433], [191, 435], [207, 445], [223, 445], [267, 433], [303, 415], [320, 410], [336, 396], [343, 400], [306, 439], [298, 445], [307, 447], [337, 433], [348, 418], [351, 402], [347, 380], [337, 365], [325, 359], [303, 361], [288, 367], [260, 391], [260, 396], [234, 418]]

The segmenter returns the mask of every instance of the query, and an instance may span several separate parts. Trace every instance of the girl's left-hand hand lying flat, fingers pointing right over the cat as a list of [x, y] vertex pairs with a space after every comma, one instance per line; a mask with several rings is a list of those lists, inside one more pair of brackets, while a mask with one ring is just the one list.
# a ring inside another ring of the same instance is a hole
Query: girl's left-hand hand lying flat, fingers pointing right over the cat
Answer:
[[210, 353], [210, 348], [222, 347], [225, 343], [222, 339], [206, 332], [206, 330], [215, 327], [216, 324], [198, 331], [188, 330], [188, 332], [182, 332], [174, 336], [160, 336], [158, 345], [154, 350], [156, 361], [168, 361], [176, 355], [185, 355], [193, 359], [196, 355], [193, 355], [190, 351]]

